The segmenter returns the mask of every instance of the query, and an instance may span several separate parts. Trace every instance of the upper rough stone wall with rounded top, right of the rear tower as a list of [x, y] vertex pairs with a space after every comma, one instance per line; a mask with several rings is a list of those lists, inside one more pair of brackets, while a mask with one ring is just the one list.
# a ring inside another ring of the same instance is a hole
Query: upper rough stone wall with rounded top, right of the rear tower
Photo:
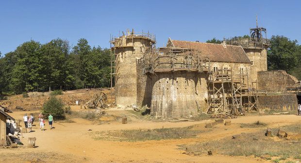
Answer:
[[287, 87], [300, 87], [295, 76], [283, 70], [258, 72], [257, 89], [266, 91], [285, 91]]

